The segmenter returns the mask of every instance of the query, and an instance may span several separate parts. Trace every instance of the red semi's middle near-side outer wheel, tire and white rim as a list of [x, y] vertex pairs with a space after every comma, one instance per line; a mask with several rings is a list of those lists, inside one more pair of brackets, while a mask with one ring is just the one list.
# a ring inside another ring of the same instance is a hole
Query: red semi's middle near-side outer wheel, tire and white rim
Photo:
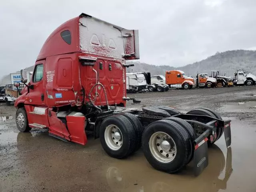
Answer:
[[[116, 138], [114, 138], [113, 132], [119, 133], [115, 135]], [[121, 139], [122, 141], [120, 141]], [[117, 159], [127, 157], [136, 147], [136, 132], [133, 124], [122, 115], [112, 115], [105, 118], [100, 125], [100, 142], [110, 157]]]

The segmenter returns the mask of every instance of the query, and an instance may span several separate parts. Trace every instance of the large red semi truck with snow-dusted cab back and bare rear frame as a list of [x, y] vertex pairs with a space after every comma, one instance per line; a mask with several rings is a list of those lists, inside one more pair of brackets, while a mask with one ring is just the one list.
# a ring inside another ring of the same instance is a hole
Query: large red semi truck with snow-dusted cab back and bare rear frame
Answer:
[[46, 128], [51, 136], [82, 145], [90, 131], [113, 158], [142, 146], [157, 170], [174, 173], [194, 160], [194, 173], [200, 174], [208, 165], [208, 144], [224, 132], [230, 146], [230, 120], [207, 108], [186, 114], [167, 106], [117, 108], [131, 99], [126, 60], [134, 59], [139, 59], [138, 30], [87, 14], [65, 22], [42, 46], [28, 84], [21, 70], [26, 87], [15, 101], [18, 130]]

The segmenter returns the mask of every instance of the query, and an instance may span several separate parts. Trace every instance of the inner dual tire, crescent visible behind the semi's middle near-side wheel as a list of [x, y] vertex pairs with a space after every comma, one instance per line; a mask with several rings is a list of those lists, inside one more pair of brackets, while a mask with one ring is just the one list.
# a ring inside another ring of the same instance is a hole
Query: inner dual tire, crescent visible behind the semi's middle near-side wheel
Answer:
[[138, 117], [136, 117], [134, 114], [124, 113], [122, 115], [125, 116], [126, 118], [128, 118], [128, 120], [132, 123], [133, 128], [134, 128], [135, 133], [136, 133], [136, 141], [135, 141], [136, 146], [135, 146], [134, 150], [132, 151], [132, 153], [134, 153], [138, 149], [141, 148], [142, 124], [141, 124], [140, 120], [138, 119]]

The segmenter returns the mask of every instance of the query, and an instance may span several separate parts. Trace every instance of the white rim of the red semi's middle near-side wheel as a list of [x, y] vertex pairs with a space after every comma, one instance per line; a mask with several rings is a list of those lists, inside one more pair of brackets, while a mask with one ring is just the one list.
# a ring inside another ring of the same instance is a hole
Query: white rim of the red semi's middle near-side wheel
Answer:
[[115, 125], [109, 125], [104, 132], [105, 142], [113, 151], [117, 151], [121, 148], [123, 143], [123, 136], [120, 129]]

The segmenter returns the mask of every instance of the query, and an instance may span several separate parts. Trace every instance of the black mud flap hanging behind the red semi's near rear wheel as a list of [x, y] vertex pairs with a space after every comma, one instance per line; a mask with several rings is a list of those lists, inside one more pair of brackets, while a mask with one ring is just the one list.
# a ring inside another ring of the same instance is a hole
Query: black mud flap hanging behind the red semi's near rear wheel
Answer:
[[194, 176], [200, 173], [208, 166], [208, 138], [204, 138], [201, 142], [195, 145], [194, 150]]

